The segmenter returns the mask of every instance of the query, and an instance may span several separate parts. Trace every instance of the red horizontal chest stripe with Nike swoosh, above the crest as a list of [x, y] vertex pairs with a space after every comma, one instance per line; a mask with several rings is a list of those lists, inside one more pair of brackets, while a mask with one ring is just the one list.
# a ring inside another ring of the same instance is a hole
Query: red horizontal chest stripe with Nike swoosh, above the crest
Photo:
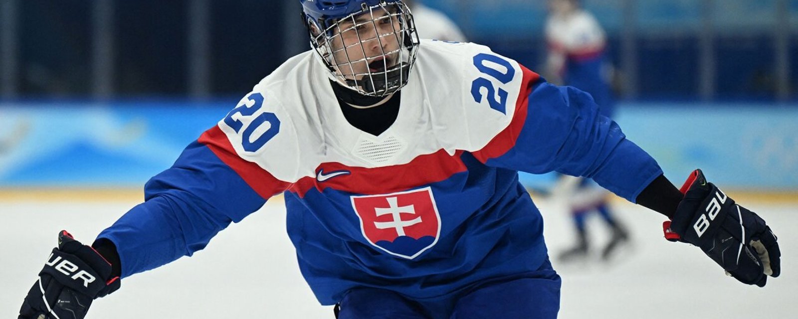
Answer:
[[[294, 183], [289, 191], [297, 193], [299, 197], [304, 197], [312, 188], [324, 191], [327, 187], [361, 195], [407, 191], [419, 185], [440, 182], [455, 173], [466, 171], [467, 167], [460, 160], [462, 154], [462, 151], [457, 151], [454, 155], [449, 155], [446, 151], [440, 150], [417, 156], [409, 163], [373, 168], [350, 167], [335, 162], [322, 163], [316, 167], [316, 173], [321, 170], [323, 174], [335, 175], [334, 177], [324, 179], [322, 182], [313, 177], [303, 177]], [[349, 174], [338, 173], [340, 171], [349, 171]]]

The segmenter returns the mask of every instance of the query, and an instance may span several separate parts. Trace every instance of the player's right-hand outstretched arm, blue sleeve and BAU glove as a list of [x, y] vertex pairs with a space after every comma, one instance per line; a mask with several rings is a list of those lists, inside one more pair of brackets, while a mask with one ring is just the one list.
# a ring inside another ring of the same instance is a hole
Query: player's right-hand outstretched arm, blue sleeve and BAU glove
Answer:
[[535, 81], [530, 91], [526, 112], [514, 114], [524, 116], [523, 122], [514, 120], [508, 127], [517, 135], [500, 135], [511, 139], [500, 144], [512, 147], [486, 163], [592, 178], [630, 202], [671, 218], [674, 239], [701, 247], [741, 282], [764, 286], [765, 275], [780, 274], [776, 237], [764, 220], [712, 183], [701, 183], [705, 179], [700, 171], [678, 190], [648, 153], [599, 113], [590, 95], [543, 79]]

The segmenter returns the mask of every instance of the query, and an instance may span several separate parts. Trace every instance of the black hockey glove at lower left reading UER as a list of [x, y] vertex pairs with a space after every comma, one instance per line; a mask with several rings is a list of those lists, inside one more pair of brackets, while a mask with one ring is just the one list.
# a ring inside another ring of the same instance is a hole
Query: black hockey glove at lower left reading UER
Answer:
[[22, 301], [18, 319], [82, 319], [95, 298], [119, 289], [119, 278], [110, 277], [105, 258], [61, 230], [58, 247]]

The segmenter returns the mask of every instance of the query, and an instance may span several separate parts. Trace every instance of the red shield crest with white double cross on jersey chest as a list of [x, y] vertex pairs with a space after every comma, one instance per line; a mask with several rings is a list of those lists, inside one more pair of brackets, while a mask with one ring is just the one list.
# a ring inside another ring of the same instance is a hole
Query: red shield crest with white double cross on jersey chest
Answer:
[[430, 187], [351, 199], [363, 237], [388, 254], [413, 259], [438, 241], [440, 214]]

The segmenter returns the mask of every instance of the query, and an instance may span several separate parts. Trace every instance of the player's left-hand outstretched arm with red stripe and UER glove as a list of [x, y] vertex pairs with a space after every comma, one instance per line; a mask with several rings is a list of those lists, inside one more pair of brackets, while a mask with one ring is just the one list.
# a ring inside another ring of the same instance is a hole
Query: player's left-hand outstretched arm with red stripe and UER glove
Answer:
[[[240, 123], [236, 114], [230, 116]], [[103, 230], [93, 246], [62, 232], [19, 317], [82, 318], [93, 299], [119, 288], [120, 278], [192, 255], [282, 192], [287, 183], [238, 156], [220, 128], [224, 123], [150, 179], [144, 203]]]

